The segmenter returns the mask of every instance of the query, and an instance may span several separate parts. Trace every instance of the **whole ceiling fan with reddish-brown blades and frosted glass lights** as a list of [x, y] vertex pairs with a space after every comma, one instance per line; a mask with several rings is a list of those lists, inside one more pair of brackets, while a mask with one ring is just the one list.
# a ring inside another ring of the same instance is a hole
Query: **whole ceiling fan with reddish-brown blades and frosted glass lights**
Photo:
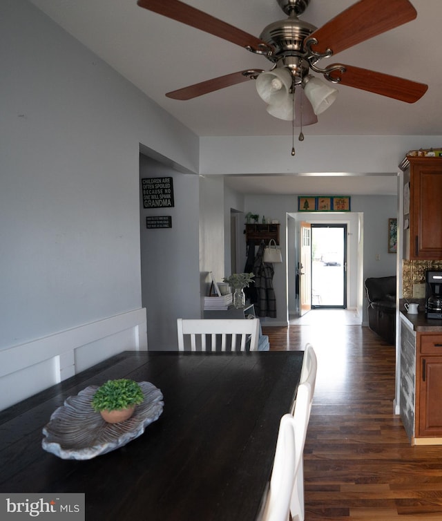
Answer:
[[270, 23], [257, 38], [182, 1], [137, 1], [142, 8], [231, 41], [263, 55], [272, 63], [269, 71], [240, 70], [166, 93], [175, 100], [191, 100], [256, 79], [256, 89], [267, 102], [267, 111], [294, 124], [299, 113], [302, 126], [316, 123], [316, 116], [334, 102], [338, 93], [311, 71], [322, 74], [332, 84], [359, 88], [407, 103], [414, 103], [425, 94], [427, 85], [410, 79], [352, 65], [320, 66], [324, 58], [415, 19], [417, 13], [409, 0], [359, 0], [321, 28], [299, 19], [309, 3], [310, 0], [278, 0], [288, 18]]

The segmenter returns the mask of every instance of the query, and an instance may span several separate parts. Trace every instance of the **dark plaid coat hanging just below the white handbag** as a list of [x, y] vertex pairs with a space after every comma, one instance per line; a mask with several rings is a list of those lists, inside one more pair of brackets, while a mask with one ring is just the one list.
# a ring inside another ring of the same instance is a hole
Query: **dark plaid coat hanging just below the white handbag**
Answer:
[[253, 274], [255, 278], [254, 287], [258, 294], [255, 304], [256, 316], [269, 316], [276, 319], [276, 297], [273, 290], [273, 264], [262, 260], [265, 244], [262, 242], [253, 263]]

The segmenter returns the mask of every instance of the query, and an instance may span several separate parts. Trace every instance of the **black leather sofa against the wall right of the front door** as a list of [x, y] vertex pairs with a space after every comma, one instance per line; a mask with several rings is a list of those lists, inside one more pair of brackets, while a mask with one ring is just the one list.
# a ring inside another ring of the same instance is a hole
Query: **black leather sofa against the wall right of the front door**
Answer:
[[369, 328], [387, 343], [396, 341], [396, 275], [365, 279]]

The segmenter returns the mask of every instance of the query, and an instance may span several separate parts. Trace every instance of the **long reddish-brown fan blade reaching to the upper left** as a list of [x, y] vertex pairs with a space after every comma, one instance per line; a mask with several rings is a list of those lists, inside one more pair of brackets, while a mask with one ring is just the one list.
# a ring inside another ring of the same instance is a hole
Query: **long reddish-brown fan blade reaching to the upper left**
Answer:
[[188, 26], [209, 32], [211, 35], [218, 36], [224, 40], [231, 41], [241, 47], [258, 53], [269, 53], [273, 50], [264, 41], [249, 35], [230, 23], [219, 20], [199, 9], [188, 6], [178, 0], [138, 0], [138, 6], [149, 11], [157, 12], [159, 15], [171, 18]]

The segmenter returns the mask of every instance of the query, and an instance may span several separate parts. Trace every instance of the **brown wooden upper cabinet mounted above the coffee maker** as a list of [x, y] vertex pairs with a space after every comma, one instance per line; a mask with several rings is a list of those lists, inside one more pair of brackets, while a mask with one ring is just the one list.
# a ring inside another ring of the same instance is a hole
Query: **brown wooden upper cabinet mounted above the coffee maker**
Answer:
[[409, 209], [407, 198], [404, 199], [404, 257], [439, 260], [442, 258], [442, 158], [407, 156], [401, 169], [405, 184], [410, 182]]

